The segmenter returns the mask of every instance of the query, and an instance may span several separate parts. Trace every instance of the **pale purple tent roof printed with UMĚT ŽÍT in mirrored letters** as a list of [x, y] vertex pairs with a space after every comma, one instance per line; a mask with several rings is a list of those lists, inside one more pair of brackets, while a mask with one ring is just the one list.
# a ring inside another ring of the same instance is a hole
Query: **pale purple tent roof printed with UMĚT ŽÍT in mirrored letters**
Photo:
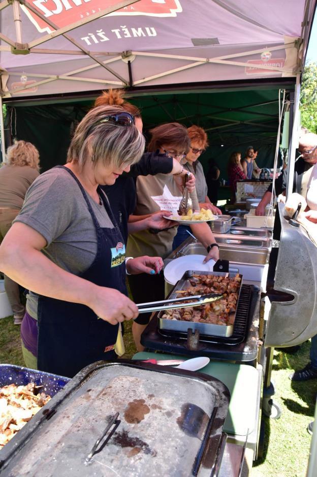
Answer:
[[301, 70], [315, 4], [3, 0], [2, 95], [294, 77]]

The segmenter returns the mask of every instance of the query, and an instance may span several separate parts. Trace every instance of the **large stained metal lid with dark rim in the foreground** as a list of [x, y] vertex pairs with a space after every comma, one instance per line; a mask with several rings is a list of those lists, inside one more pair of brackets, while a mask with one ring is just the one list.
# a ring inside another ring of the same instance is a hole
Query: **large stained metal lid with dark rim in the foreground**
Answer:
[[[228, 388], [162, 368], [131, 361], [84, 368], [5, 446], [1, 476], [215, 476]], [[87, 462], [117, 412], [119, 426]]]

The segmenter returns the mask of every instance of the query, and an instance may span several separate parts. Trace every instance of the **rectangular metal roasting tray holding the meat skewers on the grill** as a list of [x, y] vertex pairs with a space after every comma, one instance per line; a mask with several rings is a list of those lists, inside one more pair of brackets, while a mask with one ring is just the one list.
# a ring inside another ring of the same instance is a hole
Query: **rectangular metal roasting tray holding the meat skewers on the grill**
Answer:
[[[191, 283], [189, 282], [189, 279], [193, 275], [215, 275], [215, 276], [226, 276], [226, 272], [206, 272], [206, 271], [194, 271], [194, 270], [187, 270], [183, 276], [181, 277], [180, 280], [178, 280], [177, 284], [175, 287], [172, 289], [170, 295], [168, 298], [177, 298], [177, 293], [175, 293], [177, 290], [185, 290], [186, 288], [191, 286]], [[236, 276], [236, 273], [229, 273], [228, 274], [230, 278], [234, 278]], [[239, 296], [240, 296], [240, 291], [241, 291], [241, 286], [242, 286], [242, 275], [239, 274], [241, 278], [240, 282], [240, 287], [238, 290], [238, 301], [239, 301]], [[190, 297], [189, 297], [190, 298]], [[181, 308], [181, 306], [180, 306]], [[193, 331], [196, 329], [199, 330], [201, 334], [205, 334], [207, 336], [231, 336], [233, 334], [233, 328], [234, 324], [232, 325], [213, 325], [210, 323], [194, 323], [193, 321], [181, 321], [181, 320], [168, 320], [166, 318], [162, 318], [164, 315], [164, 310], [158, 313], [157, 315], [157, 324], [158, 324], [158, 329], [160, 330], [169, 330], [169, 331], [180, 331], [183, 333], [187, 333], [188, 328], [192, 328]], [[236, 316], [236, 313], [234, 313], [234, 318]], [[233, 320], [234, 322], [234, 320]]]

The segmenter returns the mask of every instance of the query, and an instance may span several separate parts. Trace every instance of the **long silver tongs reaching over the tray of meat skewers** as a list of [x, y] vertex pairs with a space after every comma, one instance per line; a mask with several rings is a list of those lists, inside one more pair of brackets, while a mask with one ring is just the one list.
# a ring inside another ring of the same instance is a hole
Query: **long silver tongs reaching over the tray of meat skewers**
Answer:
[[[148, 303], [139, 303], [137, 307], [139, 313], [152, 313], [161, 310], [172, 310], [173, 308], [187, 308], [188, 306], [205, 305], [212, 301], [223, 298], [220, 293], [207, 293], [206, 295], [184, 296], [182, 298], [174, 298], [172, 300], [149, 301]], [[185, 300], [191, 300], [189, 303], [181, 303]], [[193, 301], [195, 300], [195, 301]]]

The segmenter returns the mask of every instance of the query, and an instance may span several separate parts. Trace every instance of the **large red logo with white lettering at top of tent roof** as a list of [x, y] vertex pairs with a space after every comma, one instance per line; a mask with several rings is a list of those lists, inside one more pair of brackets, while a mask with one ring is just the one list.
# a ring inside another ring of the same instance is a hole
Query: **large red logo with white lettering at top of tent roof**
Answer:
[[[118, 0], [26, 0], [21, 8], [37, 27], [39, 32], [54, 31], [45, 21], [27, 9], [27, 4], [33, 6], [43, 16], [58, 27], [67, 26], [84, 18], [94, 15], [105, 8], [115, 6]], [[135, 4], [121, 8], [112, 15], [147, 15], [154, 17], [175, 17], [181, 12], [180, 0], [139, 0]]]

